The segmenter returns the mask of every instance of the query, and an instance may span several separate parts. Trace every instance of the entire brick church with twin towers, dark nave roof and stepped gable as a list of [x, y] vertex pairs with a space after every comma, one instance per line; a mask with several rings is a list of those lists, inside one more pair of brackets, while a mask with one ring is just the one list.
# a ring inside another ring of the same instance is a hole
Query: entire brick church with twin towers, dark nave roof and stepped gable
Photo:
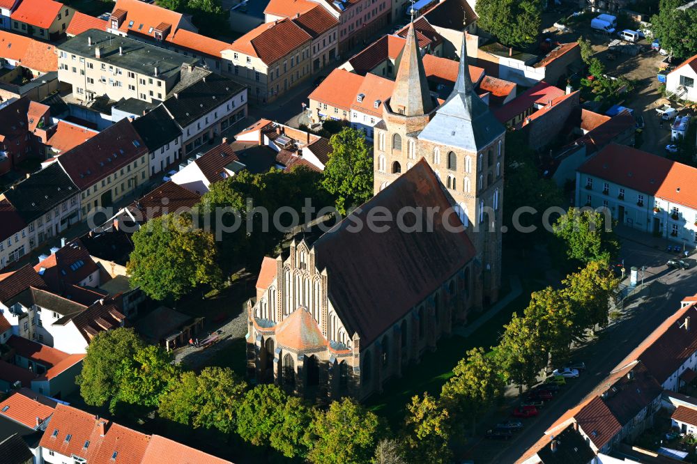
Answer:
[[[505, 130], [466, 63], [438, 107], [412, 25], [383, 106], [375, 196], [316, 240], [264, 258], [247, 307], [250, 378], [321, 403], [381, 392], [498, 298]], [[365, 226], [374, 210], [390, 213], [387, 231]], [[406, 210], [435, 214], [406, 214], [400, 228]]]

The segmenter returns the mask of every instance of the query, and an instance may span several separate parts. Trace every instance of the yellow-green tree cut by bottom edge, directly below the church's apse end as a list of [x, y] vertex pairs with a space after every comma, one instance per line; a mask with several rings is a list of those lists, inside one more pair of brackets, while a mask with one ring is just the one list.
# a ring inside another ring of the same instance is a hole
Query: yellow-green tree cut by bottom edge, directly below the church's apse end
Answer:
[[307, 458], [318, 464], [369, 463], [381, 432], [378, 417], [352, 399], [333, 401], [326, 412], [315, 412]]

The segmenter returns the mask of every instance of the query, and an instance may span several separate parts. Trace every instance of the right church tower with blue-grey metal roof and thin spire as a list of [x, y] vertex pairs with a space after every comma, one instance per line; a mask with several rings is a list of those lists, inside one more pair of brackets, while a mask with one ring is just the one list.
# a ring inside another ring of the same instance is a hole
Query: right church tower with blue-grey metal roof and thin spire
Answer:
[[474, 91], [464, 36], [460, 56], [455, 87], [418, 135], [418, 152], [441, 178], [477, 249], [473, 297], [493, 302], [501, 281], [505, 127]]

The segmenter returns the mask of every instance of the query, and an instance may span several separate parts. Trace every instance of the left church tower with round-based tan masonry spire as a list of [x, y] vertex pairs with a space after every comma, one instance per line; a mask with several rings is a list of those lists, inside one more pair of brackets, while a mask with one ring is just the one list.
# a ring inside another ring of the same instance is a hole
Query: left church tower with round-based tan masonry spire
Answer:
[[383, 121], [374, 132], [374, 193], [383, 190], [416, 164], [417, 136], [431, 120], [436, 101], [431, 97], [414, 24], [406, 43], [392, 96], [383, 105]]

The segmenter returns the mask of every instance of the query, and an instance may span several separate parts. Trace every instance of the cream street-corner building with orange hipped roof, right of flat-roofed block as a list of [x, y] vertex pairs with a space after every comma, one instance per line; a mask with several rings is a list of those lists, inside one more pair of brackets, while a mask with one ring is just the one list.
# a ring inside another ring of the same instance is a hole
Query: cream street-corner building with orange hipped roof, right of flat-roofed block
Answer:
[[291, 20], [261, 24], [222, 57], [231, 78], [249, 86], [251, 98], [273, 102], [312, 75], [312, 36]]

